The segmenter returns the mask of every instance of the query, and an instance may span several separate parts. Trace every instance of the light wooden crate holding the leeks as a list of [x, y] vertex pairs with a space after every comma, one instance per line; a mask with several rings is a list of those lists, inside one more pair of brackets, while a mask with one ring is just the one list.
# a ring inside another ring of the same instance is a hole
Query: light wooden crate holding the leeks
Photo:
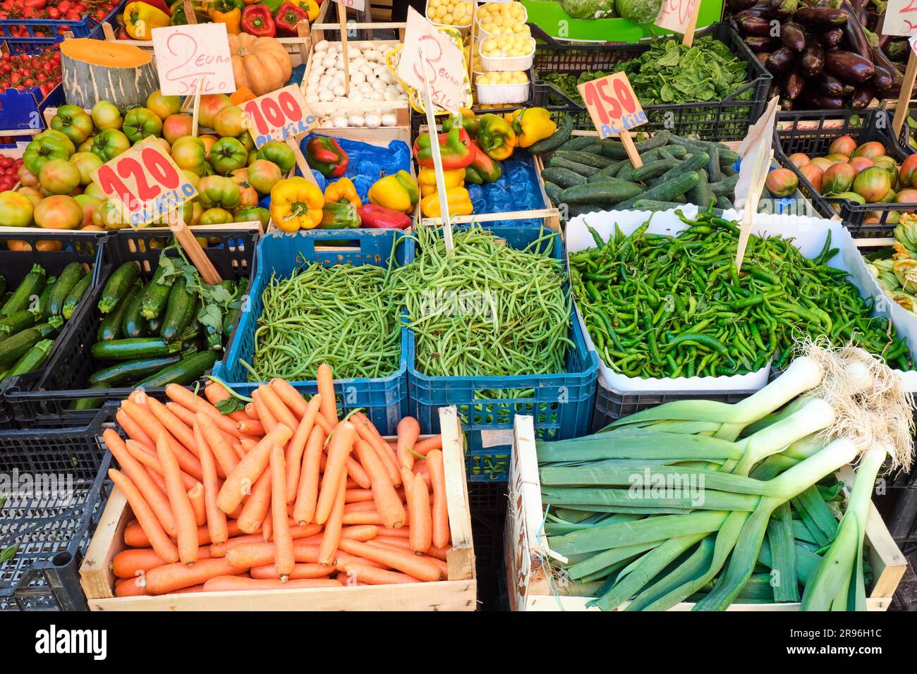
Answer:
[[[516, 415], [510, 459], [509, 506], [503, 532], [504, 563], [510, 608], [513, 611], [599, 611], [586, 608], [590, 590], [601, 582], [564, 584], [552, 577], [548, 558], [555, 553], [542, 531], [544, 519], [541, 483], [538, 481], [535, 430], [531, 416]], [[853, 470], [845, 467], [839, 479], [849, 481]], [[876, 506], [869, 504], [866, 524], [869, 564], [875, 582], [869, 596], [869, 611], [886, 611], [907, 569], [907, 560], [892, 540]], [[626, 603], [624, 604], [626, 605]], [[671, 611], [691, 611], [693, 602], [680, 602]], [[799, 603], [734, 603], [729, 611], [799, 611]]]

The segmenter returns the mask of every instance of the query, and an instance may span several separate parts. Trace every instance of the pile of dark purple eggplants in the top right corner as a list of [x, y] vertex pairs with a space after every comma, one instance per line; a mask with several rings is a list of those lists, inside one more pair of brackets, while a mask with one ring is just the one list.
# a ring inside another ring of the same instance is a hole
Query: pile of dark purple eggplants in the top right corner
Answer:
[[728, 0], [729, 24], [774, 76], [783, 110], [861, 109], [901, 72], [867, 30], [867, 0]]

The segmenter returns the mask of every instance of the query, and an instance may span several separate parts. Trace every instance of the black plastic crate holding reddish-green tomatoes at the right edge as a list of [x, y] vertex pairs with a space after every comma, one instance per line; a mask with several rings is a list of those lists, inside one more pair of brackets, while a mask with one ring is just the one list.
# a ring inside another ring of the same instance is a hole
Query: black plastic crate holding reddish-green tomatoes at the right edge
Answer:
[[890, 237], [898, 223], [895, 214], [917, 209], [917, 204], [857, 204], [849, 199], [823, 196], [790, 162], [790, 155], [797, 152], [810, 157], [821, 157], [827, 154], [831, 143], [842, 136], [850, 136], [856, 140], [857, 145], [878, 141], [885, 146], [892, 159], [898, 162], [906, 159], [913, 154], [913, 150], [901, 147], [891, 129], [891, 117], [884, 110], [869, 108], [779, 113], [774, 133], [777, 137], [774, 143], [775, 158], [796, 173], [800, 192], [825, 217], [840, 215], [852, 237]]

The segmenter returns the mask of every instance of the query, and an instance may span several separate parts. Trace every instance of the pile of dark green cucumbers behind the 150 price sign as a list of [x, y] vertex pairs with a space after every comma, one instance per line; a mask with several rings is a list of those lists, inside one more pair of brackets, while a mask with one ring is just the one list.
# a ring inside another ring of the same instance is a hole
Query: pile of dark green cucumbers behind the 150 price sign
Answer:
[[681, 204], [713, 205], [720, 215], [733, 207], [739, 156], [722, 143], [659, 131], [635, 143], [643, 160], [635, 169], [619, 140], [567, 136], [559, 144], [542, 146], [552, 154], [541, 176], [547, 196], [554, 204], [567, 204], [570, 217], [607, 210], [668, 210]]

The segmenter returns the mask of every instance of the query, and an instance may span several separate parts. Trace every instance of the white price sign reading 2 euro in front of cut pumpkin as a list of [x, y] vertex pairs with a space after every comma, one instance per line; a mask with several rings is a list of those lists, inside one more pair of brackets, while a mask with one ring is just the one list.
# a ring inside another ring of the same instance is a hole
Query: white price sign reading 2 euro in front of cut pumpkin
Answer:
[[153, 52], [162, 94], [232, 94], [232, 72], [226, 24], [195, 24], [153, 29]]

